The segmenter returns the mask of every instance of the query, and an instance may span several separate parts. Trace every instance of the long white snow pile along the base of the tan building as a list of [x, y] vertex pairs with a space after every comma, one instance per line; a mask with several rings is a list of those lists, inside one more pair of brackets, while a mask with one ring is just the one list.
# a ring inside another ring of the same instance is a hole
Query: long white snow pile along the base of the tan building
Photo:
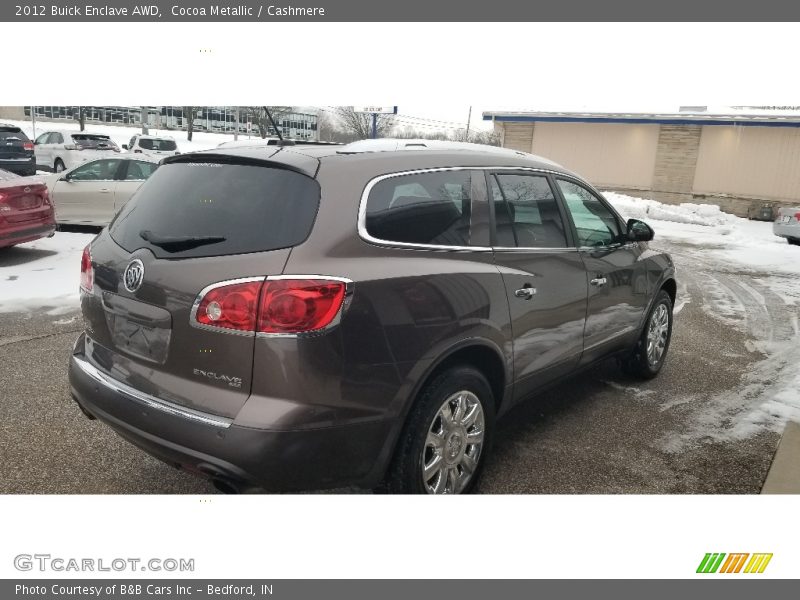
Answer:
[[722, 212], [715, 204], [664, 204], [656, 200], [634, 198], [616, 192], [603, 192], [603, 195], [626, 219], [640, 221], [670, 221], [714, 227], [727, 225], [736, 217]]

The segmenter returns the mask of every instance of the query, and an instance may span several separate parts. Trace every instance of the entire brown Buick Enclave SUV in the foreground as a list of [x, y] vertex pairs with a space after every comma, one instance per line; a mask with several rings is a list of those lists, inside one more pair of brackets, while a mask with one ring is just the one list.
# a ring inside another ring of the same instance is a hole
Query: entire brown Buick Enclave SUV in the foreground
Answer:
[[652, 237], [488, 146], [168, 157], [83, 253], [72, 396], [225, 491], [467, 492], [544, 386], [612, 356], [659, 373], [676, 282]]

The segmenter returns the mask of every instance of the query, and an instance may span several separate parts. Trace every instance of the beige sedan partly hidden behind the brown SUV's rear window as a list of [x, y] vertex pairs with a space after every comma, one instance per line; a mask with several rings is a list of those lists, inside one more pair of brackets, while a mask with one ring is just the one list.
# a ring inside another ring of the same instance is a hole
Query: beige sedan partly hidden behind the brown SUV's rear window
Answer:
[[104, 227], [158, 168], [146, 155], [114, 155], [47, 176], [59, 223]]

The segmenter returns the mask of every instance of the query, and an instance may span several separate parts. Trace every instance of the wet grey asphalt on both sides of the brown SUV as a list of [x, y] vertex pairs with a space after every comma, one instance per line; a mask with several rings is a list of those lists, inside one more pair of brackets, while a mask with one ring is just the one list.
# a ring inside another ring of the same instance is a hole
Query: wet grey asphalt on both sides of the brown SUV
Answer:
[[[681, 289], [659, 377], [631, 380], [608, 361], [514, 409], [479, 491], [760, 491], [779, 425], [758, 412], [774, 377], [774, 356], [759, 342], [790, 338], [782, 323], [794, 309], [772, 301], [757, 277], [712, 268], [689, 247], [667, 249]], [[763, 302], [745, 305], [753, 291]], [[745, 312], [725, 309], [731, 297]], [[83, 417], [67, 383], [80, 329], [77, 313], [0, 314], [0, 491], [213, 492]]]

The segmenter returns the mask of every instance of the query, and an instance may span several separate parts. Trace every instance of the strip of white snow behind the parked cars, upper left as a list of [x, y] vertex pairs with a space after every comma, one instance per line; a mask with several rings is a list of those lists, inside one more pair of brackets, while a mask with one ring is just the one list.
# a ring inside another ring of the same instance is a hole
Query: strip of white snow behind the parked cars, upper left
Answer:
[[[4, 119], [4, 123], [16, 125], [21, 128], [25, 134], [35, 139], [33, 135], [33, 124], [30, 121], [9, 121]], [[36, 135], [41, 135], [45, 131], [80, 131], [80, 125], [77, 121], [36, 121]], [[141, 127], [124, 127], [122, 125], [99, 125], [91, 121], [86, 123], [87, 133], [99, 133], [108, 135], [116, 144], [122, 148], [122, 144], [127, 144], [131, 137], [137, 133], [142, 133]], [[206, 131], [195, 131], [192, 134], [192, 141], [186, 139], [185, 131], [170, 131], [167, 129], [150, 128], [149, 135], [163, 135], [175, 139], [178, 144], [178, 150], [181, 152], [191, 152], [197, 150], [208, 150], [216, 148], [222, 142], [233, 141], [232, 133], [210, 133]], [[239, 134], [239, 140], [246, 140], [247, 136]], [[258, 136], [253, 136], [251, 139], [259, 139]], [[124, 150], [123, 150], [124, 152]]]

